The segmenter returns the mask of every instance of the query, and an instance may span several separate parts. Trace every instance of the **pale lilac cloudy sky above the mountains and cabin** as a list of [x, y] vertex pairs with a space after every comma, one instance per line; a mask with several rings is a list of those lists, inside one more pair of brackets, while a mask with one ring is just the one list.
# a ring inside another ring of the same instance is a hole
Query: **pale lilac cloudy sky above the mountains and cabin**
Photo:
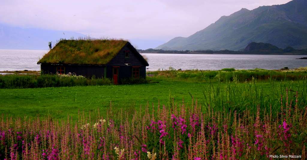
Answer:
[[[0, 23], [163, 43], [241, 8], [290, 0], [0, 0]], [[138, 45], [138, 44], [136, 44]], [[156, 46], [153, 46], [156, 47]]]

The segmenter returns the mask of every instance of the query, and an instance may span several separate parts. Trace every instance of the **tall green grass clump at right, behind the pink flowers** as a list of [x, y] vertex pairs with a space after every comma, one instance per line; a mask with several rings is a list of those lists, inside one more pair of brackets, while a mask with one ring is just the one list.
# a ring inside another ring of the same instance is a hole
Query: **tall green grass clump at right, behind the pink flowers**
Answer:
[[[208, 87], [203, 88], [205, 105], [202, 111], [208, 111], [206, 106], [211, 106], [216, 110], [236, 110], [242, 113], [247, 108], [256, 112], [257, 107], [261, 110], [271, 107], [273, 115], [280, 111], [280, 101], [289, 97], [301, 96], [299, 103], [307, 105], [307, 80], [303, 78], [297, 81], [281, 81], [269, 78], [269, 85], [259, 87], [257, 80], [252, 78], [249, 82], [227, 82], [221, 85], [210, 83]], [[294, 85], [295, 84], [295, 85]], [[284, 105], [294, 105], [294, 101], [287, 101]]]

